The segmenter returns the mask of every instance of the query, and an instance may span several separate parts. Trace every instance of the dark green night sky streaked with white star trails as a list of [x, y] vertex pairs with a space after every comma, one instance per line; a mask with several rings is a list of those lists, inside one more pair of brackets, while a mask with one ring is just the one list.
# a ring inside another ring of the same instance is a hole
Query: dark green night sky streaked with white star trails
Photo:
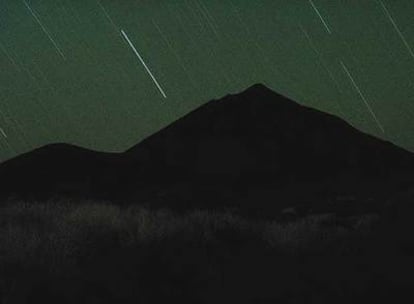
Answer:
[[414, 1], [0, 0], [0, 160], [122, 151], [258, 82], [414, 151]]

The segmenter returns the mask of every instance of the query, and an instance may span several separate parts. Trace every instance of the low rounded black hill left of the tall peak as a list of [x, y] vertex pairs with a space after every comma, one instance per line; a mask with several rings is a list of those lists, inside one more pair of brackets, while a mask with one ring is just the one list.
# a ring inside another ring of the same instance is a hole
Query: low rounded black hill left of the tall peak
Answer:
[[47, 145], [0, 166], [0, 195], [48, 199], [61, 195], [104, 198], [121, 168], [118, 154], [68, 144]]

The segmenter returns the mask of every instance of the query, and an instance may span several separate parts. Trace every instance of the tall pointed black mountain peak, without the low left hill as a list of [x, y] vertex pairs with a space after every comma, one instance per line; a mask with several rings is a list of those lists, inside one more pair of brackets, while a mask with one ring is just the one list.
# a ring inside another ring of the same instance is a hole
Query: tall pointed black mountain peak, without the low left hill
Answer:
[[126, 157], [146, 176], [131, 189], [155, 183], [181, 203], [249, 210], [385, 199], [414, 173], [411, 153], [259, 84], [201, 106]]

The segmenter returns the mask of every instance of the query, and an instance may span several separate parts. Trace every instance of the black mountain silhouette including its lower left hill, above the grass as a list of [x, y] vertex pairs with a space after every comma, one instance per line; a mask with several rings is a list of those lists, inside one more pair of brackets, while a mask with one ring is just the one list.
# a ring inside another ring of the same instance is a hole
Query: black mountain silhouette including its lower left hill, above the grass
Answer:
[[16, 157], [0, 165], [0, 193], [254, 213], [362, 208], [412, 187], [413, 174], [412, 153], [256, 84], [124, 153], [56, 144]]

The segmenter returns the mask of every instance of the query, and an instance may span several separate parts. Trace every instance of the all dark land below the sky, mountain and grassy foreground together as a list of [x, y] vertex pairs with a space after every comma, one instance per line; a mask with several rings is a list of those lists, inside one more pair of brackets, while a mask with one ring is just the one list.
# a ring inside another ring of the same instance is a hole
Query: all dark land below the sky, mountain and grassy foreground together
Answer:
[[0, 303], [414, 303], [413, 218], [414, 154], [254, 85], [0, 164]]

